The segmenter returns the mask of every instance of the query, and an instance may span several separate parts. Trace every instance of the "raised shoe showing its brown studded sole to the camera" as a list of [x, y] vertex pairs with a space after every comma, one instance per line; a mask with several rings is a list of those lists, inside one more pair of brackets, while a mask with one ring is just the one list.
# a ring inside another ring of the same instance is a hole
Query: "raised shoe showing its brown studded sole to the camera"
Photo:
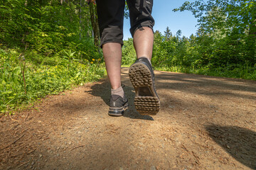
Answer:
[[160, 101], [154, 84], [154, 71], [146, 57], [139, 58], [129, 67], [129, 79], [135, 90], [134, 105], [142, 115], [156, 115]]

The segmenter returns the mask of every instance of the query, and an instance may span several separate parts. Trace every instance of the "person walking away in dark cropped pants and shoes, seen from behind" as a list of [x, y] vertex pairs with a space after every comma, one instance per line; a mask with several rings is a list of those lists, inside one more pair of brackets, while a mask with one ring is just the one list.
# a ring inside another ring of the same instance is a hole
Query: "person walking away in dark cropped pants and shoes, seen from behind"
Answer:
[[[112, 86], [108, 114], [122, 116], [128, 100], [121, 85], [121, 62], [125, 0], [96, 0], [100, 27], [100, 47]], [[153, 0], [127, 0], [130, 32], [137, 61], [129, 67], [129, 79], [135, 90], [134, 105], [143, 115], [155, 115], [160, 108], [154, 84], [151, 57], [154, 42]]]

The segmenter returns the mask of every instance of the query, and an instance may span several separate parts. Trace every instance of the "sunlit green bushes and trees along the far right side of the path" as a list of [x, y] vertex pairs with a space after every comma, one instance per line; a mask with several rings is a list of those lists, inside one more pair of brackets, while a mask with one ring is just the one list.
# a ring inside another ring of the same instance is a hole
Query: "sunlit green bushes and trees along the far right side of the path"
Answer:
[[[173, 36], [169, 28], [166, 28], [165, 35], [156, 30], [151, 60], [156, 69], [256, 80], [256, 64], [247, 62], [245, 41], [218, 33], [215, 36], [180, 37], [180, 34]], [[125, 61], [122, 64], [132, 64], [135, 59], [132, 39], [124, 41], [122, 50]]]

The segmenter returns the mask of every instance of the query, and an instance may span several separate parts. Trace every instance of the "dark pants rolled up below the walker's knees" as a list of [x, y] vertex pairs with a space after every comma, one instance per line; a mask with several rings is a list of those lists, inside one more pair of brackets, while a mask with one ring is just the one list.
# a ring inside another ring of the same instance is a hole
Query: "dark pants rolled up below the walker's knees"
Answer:
[[[107, 42], [124, 44], [123, 24], [125, 0], [96, 0], [100, 26], [100, 47]], [[154, 18], [151, 16], [153, 0], [127, 0], [132, 37], [142, 27], [153, 30]]]

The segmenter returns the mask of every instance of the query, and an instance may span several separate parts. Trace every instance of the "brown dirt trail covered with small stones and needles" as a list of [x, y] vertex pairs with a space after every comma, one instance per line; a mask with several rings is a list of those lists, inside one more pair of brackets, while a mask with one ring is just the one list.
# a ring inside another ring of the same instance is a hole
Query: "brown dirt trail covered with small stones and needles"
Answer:
[[0, 118], [0, 169], [256, 169], [256, 81], [156, 72], [161, 110], [107, 115], [107, 79]]

